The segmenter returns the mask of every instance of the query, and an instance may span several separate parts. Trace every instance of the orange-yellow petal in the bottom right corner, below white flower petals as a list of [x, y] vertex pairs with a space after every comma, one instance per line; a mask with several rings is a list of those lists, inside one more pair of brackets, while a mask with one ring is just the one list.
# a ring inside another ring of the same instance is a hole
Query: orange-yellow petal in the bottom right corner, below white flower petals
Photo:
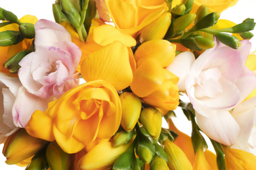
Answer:
[[255, 169], [256, 156], [244, 150], [223, 146], [226, 169]]

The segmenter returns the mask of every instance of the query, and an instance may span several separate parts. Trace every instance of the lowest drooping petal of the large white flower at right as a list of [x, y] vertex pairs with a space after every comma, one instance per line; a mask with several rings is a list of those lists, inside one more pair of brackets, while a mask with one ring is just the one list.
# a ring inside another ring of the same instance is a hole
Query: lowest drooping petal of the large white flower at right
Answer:
[[196, 113], [196, 122], [205, 135], [221, 144], [230, 146], [238, 139], [240, 127], [228, 111], [219, 111], [213, 118]]

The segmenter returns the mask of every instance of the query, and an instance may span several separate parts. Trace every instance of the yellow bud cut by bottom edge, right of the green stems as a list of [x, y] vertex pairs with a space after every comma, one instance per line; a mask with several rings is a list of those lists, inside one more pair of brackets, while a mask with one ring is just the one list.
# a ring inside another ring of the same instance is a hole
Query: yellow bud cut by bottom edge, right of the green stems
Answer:
[[184, 169], [192, 170], [192, 165], [184, 152], [176, 144], [169, 141], [169, 139], [163, 142], [163, 149], [168, 157], [167, 165], [169, 169]]

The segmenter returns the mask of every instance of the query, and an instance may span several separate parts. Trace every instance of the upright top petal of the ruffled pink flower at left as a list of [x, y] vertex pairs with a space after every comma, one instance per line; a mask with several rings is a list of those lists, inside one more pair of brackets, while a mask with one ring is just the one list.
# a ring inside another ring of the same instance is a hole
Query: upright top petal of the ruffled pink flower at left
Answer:
[[35, 23], [35, 48], [53, 46], [59, 41], [72, 41], [70, 33], [62, 25], [49, 20], [39, 20]]

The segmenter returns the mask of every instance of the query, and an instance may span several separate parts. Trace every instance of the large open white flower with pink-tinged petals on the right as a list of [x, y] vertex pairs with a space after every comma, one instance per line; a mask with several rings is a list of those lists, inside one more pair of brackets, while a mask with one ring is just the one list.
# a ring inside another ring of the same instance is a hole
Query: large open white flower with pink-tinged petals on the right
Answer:
[[167, 67], [179, 76], [179, 89], [186, 90], [200, 129], [226, 145], [236, 143], [240, 132], [229, 110], [256, 87], [255, 74], [244, 65], [251, 44], [247, 40], [241, 43], [234, 50], [217, 41], [196, 60], [191, 52], [183, 52]]

